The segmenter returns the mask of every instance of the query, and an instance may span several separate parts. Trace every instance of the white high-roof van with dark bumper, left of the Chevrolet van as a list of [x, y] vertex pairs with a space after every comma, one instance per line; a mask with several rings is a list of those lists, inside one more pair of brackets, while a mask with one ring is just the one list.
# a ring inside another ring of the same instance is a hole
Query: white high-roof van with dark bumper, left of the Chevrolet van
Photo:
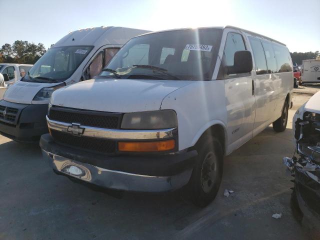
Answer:
[[108, 26], [73, 31], [61, 38], [4, 93], [0, 134], [16, 141], [38, 141], [48, 130], [45, 114], [51, 93], [98, 75], [127, 40], [145, 32]]

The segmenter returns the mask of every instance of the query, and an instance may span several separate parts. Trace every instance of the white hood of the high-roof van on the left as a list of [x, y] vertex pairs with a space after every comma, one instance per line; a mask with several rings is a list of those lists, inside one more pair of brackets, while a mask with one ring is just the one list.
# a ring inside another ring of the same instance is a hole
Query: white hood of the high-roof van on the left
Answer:
[[[15, 102], [15, 103], [31, 104], [35, 94], [38, 93], [38, 91], [41, 90], [43, 87], [55, 86], [58, 84], [61, 84], [61, 82], [38, 83], [38, 82], [17, 81], [11, 86], [9, 86], [8, 89], [5, 91], [3, 100]], [[40, 103], [40, 101], [38, 101], [38, 103]], [[45, 102], [41, 101], [41, 103], [45, 103]]]

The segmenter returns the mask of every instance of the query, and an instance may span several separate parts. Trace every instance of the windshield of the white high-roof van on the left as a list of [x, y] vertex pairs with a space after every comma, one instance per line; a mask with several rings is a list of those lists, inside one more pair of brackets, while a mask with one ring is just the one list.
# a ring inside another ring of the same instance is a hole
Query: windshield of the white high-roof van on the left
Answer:
[[61, 82], [69, 78], [93, 46], [52, 47], [25, 74], [22, 81]]

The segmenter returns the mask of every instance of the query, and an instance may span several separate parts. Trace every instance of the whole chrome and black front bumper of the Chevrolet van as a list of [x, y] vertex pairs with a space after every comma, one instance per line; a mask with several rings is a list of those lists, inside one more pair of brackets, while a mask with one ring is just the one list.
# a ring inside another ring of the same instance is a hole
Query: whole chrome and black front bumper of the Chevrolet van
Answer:
[[162, 192], [185, 185], [196, 150], [161, 155], [89, 153], [59, 145], [49, 134], [40, 139], [44, 159], [56, 172], [94, 185], [129, 191]]

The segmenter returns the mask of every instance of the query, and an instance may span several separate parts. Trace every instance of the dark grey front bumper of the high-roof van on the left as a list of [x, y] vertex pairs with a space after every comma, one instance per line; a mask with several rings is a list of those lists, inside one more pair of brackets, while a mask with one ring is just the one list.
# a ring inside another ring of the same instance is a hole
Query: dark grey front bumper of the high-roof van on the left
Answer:
[[21, 142], [36, 142], [40, 135], [47, 133], [45, 114], [47, 104], [21, 104], [0, 100], [0, 105], [17, 109], [15, 119], [0, 118], [0, 134]]

